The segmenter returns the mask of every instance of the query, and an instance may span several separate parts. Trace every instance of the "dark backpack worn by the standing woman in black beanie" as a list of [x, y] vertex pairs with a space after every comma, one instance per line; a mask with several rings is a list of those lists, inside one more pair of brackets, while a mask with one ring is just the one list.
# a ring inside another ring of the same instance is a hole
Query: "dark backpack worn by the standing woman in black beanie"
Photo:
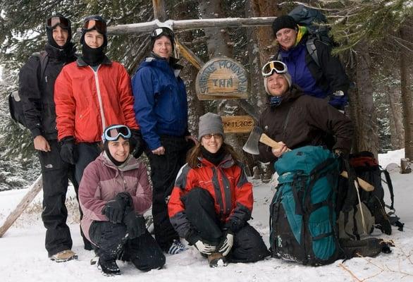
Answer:
[[307, 51], [317, 66], [320, 66], [319, 55], [317, 54], [314, 41], [319, 40], [330, 46], [336, 45], [334, 40], [328, 36], [330, 29], [326, 25], [323, 25], [327, 23], [326, 16], [319, 10], [302, 5], [295, 7], [288, 13], [288, 16], [294, 18], [297, 24], [307, 27], [309, 31], [309, 38], [306, 42]]

